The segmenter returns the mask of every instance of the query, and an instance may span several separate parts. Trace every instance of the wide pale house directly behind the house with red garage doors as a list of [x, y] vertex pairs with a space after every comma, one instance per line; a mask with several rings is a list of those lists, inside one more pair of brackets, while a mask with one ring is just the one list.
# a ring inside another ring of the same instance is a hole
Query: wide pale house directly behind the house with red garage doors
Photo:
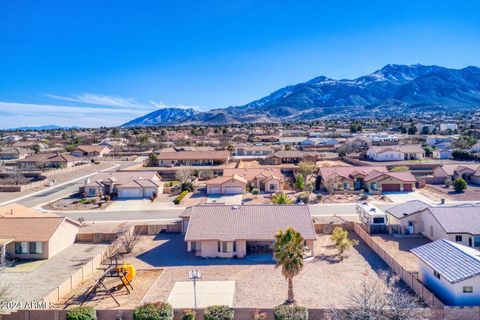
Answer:
[[367, 150], [367, 157], [373, 161], [422, 160], [425, 158], [425, 150], [419, 144], [372, 146]]

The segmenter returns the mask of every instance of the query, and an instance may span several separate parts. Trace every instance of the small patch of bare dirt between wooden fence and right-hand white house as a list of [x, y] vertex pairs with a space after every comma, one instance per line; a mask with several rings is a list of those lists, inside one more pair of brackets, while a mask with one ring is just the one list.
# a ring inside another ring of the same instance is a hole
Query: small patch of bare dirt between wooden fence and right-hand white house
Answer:
[[418, 272], [417, 258], [410, 253], [410, 249], [430, 242], [423, 236], [394, 237], [391, 235], [376, 235], [373, 238], [387, 251], [400, 265], [409, 272]]

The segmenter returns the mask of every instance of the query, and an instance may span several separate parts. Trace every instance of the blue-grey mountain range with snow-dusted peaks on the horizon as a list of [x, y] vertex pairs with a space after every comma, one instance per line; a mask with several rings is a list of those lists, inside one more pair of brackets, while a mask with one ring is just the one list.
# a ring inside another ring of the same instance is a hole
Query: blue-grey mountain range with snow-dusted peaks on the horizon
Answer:
[[480, 68], [389, 64], [356, 79], [320, 76], [243, 106], [164, 108], [123, 126], [295, 122], [329, 117], [395, 116], [480, 107]]

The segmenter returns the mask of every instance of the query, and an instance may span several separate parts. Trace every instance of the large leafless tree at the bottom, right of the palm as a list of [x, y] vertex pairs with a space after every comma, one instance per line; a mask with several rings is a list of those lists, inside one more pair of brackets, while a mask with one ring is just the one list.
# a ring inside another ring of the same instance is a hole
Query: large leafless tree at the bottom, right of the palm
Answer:
[[381, 272], [376, 280], [364, 279], [347, 295], [350, 304], [345, 309], [331, 308], [331, 320], [420, 320], [427, 309], [413, 293], [399, 286], [399, 278]]

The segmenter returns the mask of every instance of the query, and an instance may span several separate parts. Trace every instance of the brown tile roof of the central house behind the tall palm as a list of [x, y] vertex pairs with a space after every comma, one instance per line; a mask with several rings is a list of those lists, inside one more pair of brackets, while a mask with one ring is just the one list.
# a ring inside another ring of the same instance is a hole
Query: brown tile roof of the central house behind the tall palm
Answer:
[[306, 205], [201, 205], [187, 208], [186, 241], [273, 240], [279, 229], [293, 227], [305, 239], [316, 239]]

